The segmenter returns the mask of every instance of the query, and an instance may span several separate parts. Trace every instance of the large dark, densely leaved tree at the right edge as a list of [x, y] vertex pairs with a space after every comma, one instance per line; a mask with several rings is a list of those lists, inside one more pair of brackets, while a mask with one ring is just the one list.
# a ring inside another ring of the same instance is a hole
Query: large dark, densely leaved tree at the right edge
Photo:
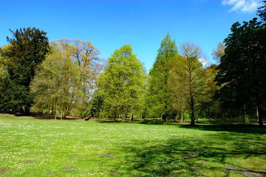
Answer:
[[238, 115], [245, 115], [255, 102], [262, 126], [266, 103], [266, 28], [254, 18], [243, 25], [236, 22], [231, 31], [224, 40], [225, 55], [217, 67], [215, 81], [220, 89], [216, 99], [222, 102], [224, 110], [233, 110]]

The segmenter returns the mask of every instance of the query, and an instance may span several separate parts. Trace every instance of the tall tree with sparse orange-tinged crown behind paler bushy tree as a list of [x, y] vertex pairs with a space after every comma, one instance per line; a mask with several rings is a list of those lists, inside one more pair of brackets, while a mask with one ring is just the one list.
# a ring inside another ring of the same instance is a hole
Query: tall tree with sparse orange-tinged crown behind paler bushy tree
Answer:
[[93, 92], [97, 89], [96, 80], [103, 70], [102, 59], [98, 57], [100, 50], [94, 47], [91, 42], [79, 39], [61, 38], [52, 41], [51, 44], [62, 53], [68, 53], [68, 57], [78, 67], [79, 81], [75, 87], [77, 94], [72, 99], [76, 109], [84, 116], [84, 111], [90, 106], [89, 101]]

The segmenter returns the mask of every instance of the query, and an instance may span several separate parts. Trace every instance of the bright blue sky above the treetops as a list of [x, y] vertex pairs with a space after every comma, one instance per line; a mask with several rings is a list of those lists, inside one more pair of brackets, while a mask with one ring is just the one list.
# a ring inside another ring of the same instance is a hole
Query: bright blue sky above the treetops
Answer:
[[152, 67], [169, 31], [177, 47], [184, 41], [211, 51], [223, 41], [233, 23], [256, 17], [261, 0], [1, 0], [0, 46], [9, 29], [36, 27], [49, 40], [89, 40], [107, 59], [130, 44], [133, 53]]

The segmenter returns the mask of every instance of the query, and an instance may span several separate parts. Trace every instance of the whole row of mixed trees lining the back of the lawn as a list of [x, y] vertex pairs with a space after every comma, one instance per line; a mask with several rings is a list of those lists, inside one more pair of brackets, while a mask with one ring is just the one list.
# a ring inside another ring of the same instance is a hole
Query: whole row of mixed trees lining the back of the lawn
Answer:
[[[108, 61], [89, 41], [48, 41], [36, 28], [11, 31], [0, 48], [0, 112], [100, 119], [134, 116], [191, 124], [197, 118], [257, 118], [266, 115], [266, 1], [261, 18], [235, 23], [212, 51], [216, 64], [205, 65], [199, 45], [179, 48], [169, 33], [149, 72], [130, 45]], [[196, 120], [197, 121], [197, 120]]]

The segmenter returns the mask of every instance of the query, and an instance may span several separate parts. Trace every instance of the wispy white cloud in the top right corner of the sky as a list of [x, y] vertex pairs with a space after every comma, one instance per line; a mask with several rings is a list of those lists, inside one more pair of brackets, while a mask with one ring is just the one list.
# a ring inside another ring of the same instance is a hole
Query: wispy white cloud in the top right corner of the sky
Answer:
[[261, 5], [260, 0], [223, 0], [223, 5], [233, 5], [229, 12], [253, 12]]

